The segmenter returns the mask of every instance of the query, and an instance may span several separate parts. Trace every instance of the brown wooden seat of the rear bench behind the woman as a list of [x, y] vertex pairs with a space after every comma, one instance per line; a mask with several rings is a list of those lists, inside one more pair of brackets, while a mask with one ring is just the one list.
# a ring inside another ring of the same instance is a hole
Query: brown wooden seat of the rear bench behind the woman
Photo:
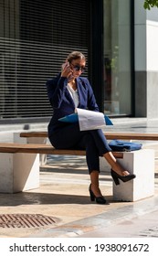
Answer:
[[[144, 141], [158, 141], [158, 133], [104, 133], [108, 140], [144, 140]], [[20, 133], [20, 137], [43, 137], [47, 138], [47, 132], [27, 132]]]

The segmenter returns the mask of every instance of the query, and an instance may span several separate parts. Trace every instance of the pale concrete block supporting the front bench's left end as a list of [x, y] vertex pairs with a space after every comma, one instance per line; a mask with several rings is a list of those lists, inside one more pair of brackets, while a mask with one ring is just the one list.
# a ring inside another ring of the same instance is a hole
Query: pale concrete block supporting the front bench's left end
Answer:
[[0, 153], [0, 193], [39, 187], [39, 155]]

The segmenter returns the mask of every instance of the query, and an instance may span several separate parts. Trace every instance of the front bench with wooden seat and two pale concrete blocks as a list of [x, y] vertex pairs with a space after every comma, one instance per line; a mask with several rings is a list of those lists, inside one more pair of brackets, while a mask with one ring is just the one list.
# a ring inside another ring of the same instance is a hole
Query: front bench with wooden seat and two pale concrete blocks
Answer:
[[[16, 193], [39, 187], [39, 154], [85, 155], [85, 151], [58, 150], [50, 144], [0, 144], [0, 193]], [[154, 151], [142, 149], [128, 153], [113, 152], [113, 155], [137, 176], [120, 186], [113, 184], [114, 200], [135, 201], [153, 196]]]

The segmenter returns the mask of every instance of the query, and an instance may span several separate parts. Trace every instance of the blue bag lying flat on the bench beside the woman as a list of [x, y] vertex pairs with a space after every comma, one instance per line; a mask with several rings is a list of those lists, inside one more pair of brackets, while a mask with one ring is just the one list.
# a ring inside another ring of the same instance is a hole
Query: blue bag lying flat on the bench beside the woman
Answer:
[[109, 143], [109, 146], [111, 147], [112, 151], [134, 151], [134, 150], [140, 150], [142, 149], [142, 144], [138, 143], [130, 143], [125, 141], [119, 141], [119, 140], [112, 140]]

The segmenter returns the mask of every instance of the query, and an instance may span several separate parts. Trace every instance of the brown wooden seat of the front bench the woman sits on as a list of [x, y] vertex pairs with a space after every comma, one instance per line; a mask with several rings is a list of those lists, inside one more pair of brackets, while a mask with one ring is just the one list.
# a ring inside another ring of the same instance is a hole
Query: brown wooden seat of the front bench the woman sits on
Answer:
[[[55, 149], [50, 144], [0, 144], [1, 153], [30, 153], [47, 155], [86, 155], [85, 150]], [[117, 158], [122, 158], [121, 152], [113, 152]]]

